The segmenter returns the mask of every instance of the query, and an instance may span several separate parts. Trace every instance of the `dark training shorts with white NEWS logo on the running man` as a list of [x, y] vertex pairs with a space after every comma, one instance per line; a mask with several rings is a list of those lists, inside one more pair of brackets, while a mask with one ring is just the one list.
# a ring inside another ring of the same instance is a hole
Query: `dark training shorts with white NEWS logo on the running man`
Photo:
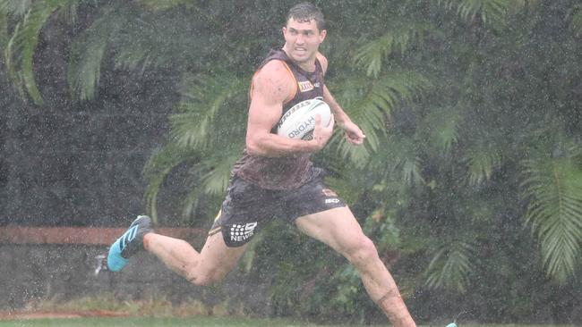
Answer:
[[334, 191], [315, 176], [297, 189], [273, 190], [234, 177], [227, 197], [210, 228], [209, 235], [222, 231], [227, 247], [240, 247], [273, 217], [295, 222], [306, 214], [346, 206]]

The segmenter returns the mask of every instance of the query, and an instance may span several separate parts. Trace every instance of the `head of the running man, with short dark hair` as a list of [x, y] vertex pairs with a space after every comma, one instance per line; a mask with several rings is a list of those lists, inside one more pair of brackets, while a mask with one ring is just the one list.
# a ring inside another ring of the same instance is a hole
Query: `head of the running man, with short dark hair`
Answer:
[[287, 24], [283, 28], [283, 49], [297, 63], [314, 62], [326, 34], [321, 10], [309, 3], [296, 4], [289, 10]]

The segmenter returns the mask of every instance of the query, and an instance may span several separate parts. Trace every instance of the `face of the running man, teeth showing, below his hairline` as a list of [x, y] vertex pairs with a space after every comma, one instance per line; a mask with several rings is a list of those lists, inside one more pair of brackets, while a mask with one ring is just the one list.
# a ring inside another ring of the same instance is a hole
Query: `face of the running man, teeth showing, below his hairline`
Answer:
[[326, 30], [319, 30], [316, 21], [295, 21], [291, 18], [283, 28], [287, 55], [297, 63], [312, 60], [325, 35]]

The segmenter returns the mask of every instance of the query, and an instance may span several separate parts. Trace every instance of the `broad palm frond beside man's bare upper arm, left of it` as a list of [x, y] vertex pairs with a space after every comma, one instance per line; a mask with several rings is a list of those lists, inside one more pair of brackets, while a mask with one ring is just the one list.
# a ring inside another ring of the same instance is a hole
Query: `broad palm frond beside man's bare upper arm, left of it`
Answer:
[[241, 99], [246, 98], [247, 86], [246, 80], [231, 73], [189, 77], [181, 93], [184, 98], [178, 106], [179, 113], [169, 118], [172, 137], [182, 147], [201, 150], [210, 147], [214, 139], [210, 135], [216, 130], [218, 113], [224, 111], [228, 117], [242, 117], [246, 113], [244, 106], [233, 110], [229, 104], [238, 101], [240, 105]]

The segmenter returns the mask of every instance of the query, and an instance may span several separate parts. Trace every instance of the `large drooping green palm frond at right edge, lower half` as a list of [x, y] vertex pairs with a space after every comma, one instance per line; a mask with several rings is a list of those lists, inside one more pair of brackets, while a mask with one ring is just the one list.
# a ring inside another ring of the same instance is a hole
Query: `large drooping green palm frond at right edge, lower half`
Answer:
[[526, 222], [539, 239], [547, 274], [565, 282], [582, 255], [582, 165], [576, 157], [540, 157], [524, 167]]

